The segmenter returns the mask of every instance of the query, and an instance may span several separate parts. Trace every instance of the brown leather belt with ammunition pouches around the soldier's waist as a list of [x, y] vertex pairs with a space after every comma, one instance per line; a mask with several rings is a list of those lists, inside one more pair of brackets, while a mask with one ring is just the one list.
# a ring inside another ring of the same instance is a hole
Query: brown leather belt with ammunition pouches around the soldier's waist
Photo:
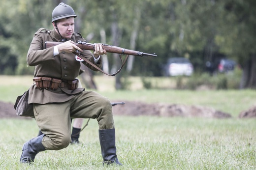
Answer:
[[[35, 77], [33, 81], [37, 88], [40, 89], [57, 89], [58, 87], [67, 87], [69, 90], [74, 90], [78, 86], [78, 79], [65, 81], [61, 79], [55, 79], [50, 77]], [[64, 82], [65, 81], [65, 82]]]

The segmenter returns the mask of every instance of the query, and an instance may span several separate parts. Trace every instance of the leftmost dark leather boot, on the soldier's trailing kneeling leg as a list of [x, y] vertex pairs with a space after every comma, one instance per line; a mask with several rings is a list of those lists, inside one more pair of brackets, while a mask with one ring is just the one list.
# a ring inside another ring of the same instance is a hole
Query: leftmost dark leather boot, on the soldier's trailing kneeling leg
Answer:
[[22, 148], [21, 159], [20, 159], [21, 163], [34, 162], [35, 155], [40, 151], [46, 150], [42, 144], [43, 137], [44, 137], [44, 134], [24, 143]]

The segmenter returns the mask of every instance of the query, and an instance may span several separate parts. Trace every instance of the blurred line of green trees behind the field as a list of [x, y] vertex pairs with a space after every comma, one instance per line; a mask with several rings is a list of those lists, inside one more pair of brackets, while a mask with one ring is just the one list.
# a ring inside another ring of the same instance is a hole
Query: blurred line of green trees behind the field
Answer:
[[[129, 57], [122, 74], [162, 76], [174, 56], [190, 58], [201, 72], [206, 61], [226, 56], [243, 69], [241, 87], [256, 87], [256, 0], [1, 0], [0, 74], [33, 74], [26, 62], [32, 36], [53, 28], [60, 2], [73, 7], [87, 41], [158, 55]], [[103, 69], [119, 69], [118, 57], [105, 56]]]

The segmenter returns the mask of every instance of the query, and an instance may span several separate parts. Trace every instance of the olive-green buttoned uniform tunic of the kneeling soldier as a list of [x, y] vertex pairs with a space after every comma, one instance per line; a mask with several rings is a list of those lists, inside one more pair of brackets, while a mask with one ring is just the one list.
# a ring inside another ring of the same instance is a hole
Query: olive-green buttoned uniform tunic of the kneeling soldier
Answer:
[[[75, 43], [78, 40], [85, 41], [79, 33], [74, 33], [71, 39]], [[34, 77], [51, 77], [62, 80], [74, 80], [80, 71], [80, 61], [75, 59], [73, 53], [60, 53], [57, 56], [53, 56], [54, 47], [45, 49], [46, 41], [61, 41], [61, 36], [55, 30], [46, 30], [40, 28], [32, 39], [32, 43], [28, 52], [27, 62], [30, 66], [35, 66]], [[95, 63], [94, 57], [91, 51], [84, 50], [82, 56], [89, 59], [98, 67], [102, 65], [102, 57]], [[89, 68], [97, 71], [91, 65], [86, 64]], [[29, 104], [38, 103], [52, 103], [52, 102], [64, 102], [72, 98], [70, 94], [77, 94], [83, 91], [79, 88], [76, 90], [67, 90], [67, 88], [57, 90], [45, 90], [36, 88], [32, 85], [30, 88]]]

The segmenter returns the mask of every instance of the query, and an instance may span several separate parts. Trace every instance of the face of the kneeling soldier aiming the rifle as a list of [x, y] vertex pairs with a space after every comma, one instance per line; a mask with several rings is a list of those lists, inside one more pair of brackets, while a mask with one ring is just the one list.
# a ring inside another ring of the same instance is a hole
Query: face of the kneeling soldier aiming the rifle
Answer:
[[[74, 17], [69, 17], [67, 19], [63, 18], [63, 19], [59, 20], [57, 22], [57, 27], [58, 27], [62, 37], [67, 38], [67, 39], [71, 38], [72, 34], [74, 33], [74, 28], [75, 28]], [[55, 27], [55, 29], [56, 29], [56, 27]]]

